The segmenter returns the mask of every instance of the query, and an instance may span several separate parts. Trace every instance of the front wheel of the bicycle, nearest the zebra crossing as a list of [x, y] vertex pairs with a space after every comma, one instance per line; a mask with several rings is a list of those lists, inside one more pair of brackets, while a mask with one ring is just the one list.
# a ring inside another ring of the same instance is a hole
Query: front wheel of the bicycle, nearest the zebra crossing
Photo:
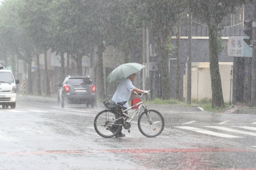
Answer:
[[156, 110], [145, 110], [138, 119], [140, 132], [146, 137], [156, 137], [164, 130], [164, 117]]

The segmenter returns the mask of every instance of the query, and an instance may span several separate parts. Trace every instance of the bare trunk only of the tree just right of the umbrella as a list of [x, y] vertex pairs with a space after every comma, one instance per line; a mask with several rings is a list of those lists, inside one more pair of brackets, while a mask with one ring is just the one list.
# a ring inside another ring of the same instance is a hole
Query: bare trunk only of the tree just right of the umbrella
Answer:
[[171, 82], [169, 73], [169, 57], [166, 48], [166, 40], [162, 39], [160, 42], [160, 70], [161, 70], [161, 80], [162, 80], [162, 99], [168, 100], [171, 98]]

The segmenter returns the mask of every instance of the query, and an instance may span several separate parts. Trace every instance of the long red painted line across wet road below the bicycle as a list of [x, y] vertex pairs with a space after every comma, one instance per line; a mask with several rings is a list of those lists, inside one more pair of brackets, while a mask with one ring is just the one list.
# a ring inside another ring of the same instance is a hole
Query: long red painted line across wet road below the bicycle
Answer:
[[52, 151], [32, 151], [32, 152], [0, 152], [0, 155], [45, 155], [45, 154], [68, 154], [68, 153], [188, 153], [188, 152], [256, 152], [249, 149], [240, 148], [190, 148], [190, 149], [106, 149], [106, 150], [52, 150]]

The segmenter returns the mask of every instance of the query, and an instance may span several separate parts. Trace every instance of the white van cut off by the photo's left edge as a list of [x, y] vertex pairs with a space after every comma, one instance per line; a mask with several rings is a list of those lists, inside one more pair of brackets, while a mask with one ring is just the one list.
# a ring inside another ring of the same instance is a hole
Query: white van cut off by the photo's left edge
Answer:
[[16, 106], [16, 84], [19, 84], [20, 80], [14, 80], [12, 71], [4, 70], [4, 67], [0, 67], [0, 105], [3, 108], [15, 108]]

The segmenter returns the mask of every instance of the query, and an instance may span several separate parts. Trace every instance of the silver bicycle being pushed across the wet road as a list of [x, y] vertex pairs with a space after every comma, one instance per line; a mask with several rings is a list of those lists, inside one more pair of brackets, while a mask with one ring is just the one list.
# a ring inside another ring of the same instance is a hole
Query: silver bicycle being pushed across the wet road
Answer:
[[[118, 102], [116, 109], [109, 109], [106, 107], [106, 110], [102, 110], [96, 115], [94, 119], [94, 129], [101, 137], [114, 137], [123, 127], [124, 129], [128, 129], [128, 132], [130, 133], [131, 121], [138, 113], [140, 113], [138, 118], [138, 128], [144, 136], [156, 137], [162, 133], [164, 129], [164, 117], [158, 111], [148, 109], [144, 105], [142, 96], [146, 96], [146, 101], [149, 99], [146, 94], [138, 94], [140, 97], [139, 103], [123, 110], [122, 106], [126, 101]], [[124, 113], [136, 106], [139, 107], [135, 110], [132, 116], [129, 116], [128, 113]], [[123, 124], [120, 124], [121, 120]]]

